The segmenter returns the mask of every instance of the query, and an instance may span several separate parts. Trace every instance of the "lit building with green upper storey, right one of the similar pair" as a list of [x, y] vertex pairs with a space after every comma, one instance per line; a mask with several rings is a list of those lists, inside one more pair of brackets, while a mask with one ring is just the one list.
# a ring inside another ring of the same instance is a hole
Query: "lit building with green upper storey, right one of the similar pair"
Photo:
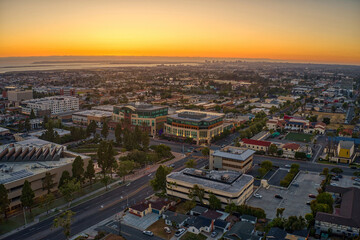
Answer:
[[224, 114], [180, 110], [169, 115], [165, 135], [175, 138], [192, 138], [196, 144], [209, 144], [211, 139], [224, 131]]

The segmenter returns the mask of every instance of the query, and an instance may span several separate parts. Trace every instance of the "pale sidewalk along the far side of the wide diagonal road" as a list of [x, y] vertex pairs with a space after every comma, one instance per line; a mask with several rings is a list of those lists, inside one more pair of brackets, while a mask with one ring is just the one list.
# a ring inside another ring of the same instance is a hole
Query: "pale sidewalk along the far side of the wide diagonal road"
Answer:
[[[125, 181], [135, 181], [135, 180], [137, 180], [137, 179], [139, 179], [139, 178], [141, 178], [141, 177], [143, 177], [143, 176], [145, 176], [145, 175], [147, 175], [147, 174], [150, 174], [150, 173], [155, 172], [160, 165], [166, 165], [166, 166], [168, 166], [168, 165], [173, 164], [173, 163], [175, 163], [175, 162], [177, 162], [177, 161], [179, 161], [179, 160], [181, 160], [181, 159], [183, 159], [183, 158], [185, 157], [184, 154], [181, 154], [181, 153], [172, 152], [172, 154], [175, 156], [174, 159], [172, 159], [172, 160], [170, 160], [170, 161], [167, 161], [167, 162], [165, 162], [165, 163], [163, 163], [163, 164], [159, 164], [159, 163], [158, 163], [158, 164], [155, 164], [155, 165], [147, 166], [147, 167], [145, 167], [145, 168], [143, 168], [143, 169], [137, 169], [133, 174], [127, 175], [127, 176], [125, 177]], [[112, 186], [117, 185], [117, 184], [119, 184], [119, 183], [122, 183], [122, 179], [119, 179], [119, 180], [117, 180], [117, 181], [109, 184], [109, 185], [108, 185], [108, 188], [111, 188]], [[95, 191], [93, 191], [93, 192], [90, 192], [90, 193], [88, 193], [88, 194], [85, 194], [84, 196], [81, 196], [81, 197], [79, 197], [79, 198], [76, 198], [76, 199], [74, 199], [74, 200], [71, 202], [71, 206], [73, 207], [74, 204], [76, 204], [77, 202], [79, 202], [79, 201], [81, 201], [81, 200], [83, 200], [83, 199], [85, 199], [85, 198], [91, 197], [92, 195], [95, 195], [95, 194], [98, 193], [98, 192], [104, 191], [105, 189], [106, 189], [106, 187], [102, 187], [102, 188], [99, 188], [99, 189], [97, 189], [97, 190], [95, 190]], [[98, 197], [98, 196], [94, 196], [94, 197]], [[90, 199], [91, 199], [91, 198], [90, 198]], [[90, 199], [88, 199], [88, 200], [90, 200]], [[51, 213], [55, 212], [56, 209], [64, 209], [64, 208], [66, 209], [67, 206], [68, 206], [68, 204], [63, 204], [63, 205], [58, 206], [58, 207], [56, 207], [56, 208], [50, 209], [50, 210], [49, 210], [49, 213], [51, 214]], [[21, 227], [19, 227], [19, 228], [17, 228], [17, 229], [14, 229], [14, 230], [11, 231], [11, 232], [7, 232], [7, 233], [1, 235], [1, 236], [0, 236], [0, 239], [5, 238], [5, 237], [7, 237], [7, 236], [10, 236], [10, 235], [14, 234], [15, 232], [18, 232], [18, 231], [20, 231], [20, 230], [23, 230], [23, 229], [25, 229], [25, 228], [28, 228], [28, 227], [31, 227], [31, 226], [35, 225], [36, 223], [38, 223], [38, 222], [40, 221], [40, 218], [41, 218], [41, 217], [46, 216], [46, 215], [47, 215], [46, 212], [37, 215], [37, 216], [34, 218], [34, 221], [33, 221], [33, 222], [28, 223], [28, 224], [26, 224], [26, 225], [24, 225], [24, 226], [21, 226]], [[54, 215], [50, 215], [49, 217], [52, 217], [52, 216], [54, 216]], [[113, 218], [113, 217], [114, 217], [114, 216], [112, 216], [111, 218]], [[111, 219], [111, 218], [109, 218], [109, 219]], [[44, 220], [45, 220], [45, 219], [44, 219]]]

